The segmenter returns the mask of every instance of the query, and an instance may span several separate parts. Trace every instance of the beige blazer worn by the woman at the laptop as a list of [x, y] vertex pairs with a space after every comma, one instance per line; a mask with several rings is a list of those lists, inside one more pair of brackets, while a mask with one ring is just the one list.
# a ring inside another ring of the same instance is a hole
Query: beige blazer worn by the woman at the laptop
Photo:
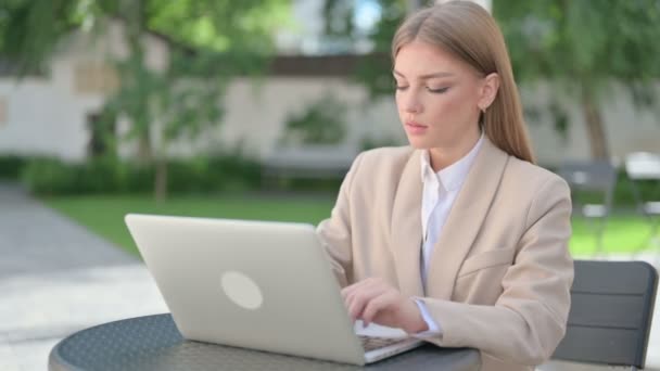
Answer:
[[361, 153], [318, 226], [340, 284], [381, 277], [421, 298], [443, 347], [482, 351], [482, 370], [532, 370], [566, 331], [573, 261], [567, 183], [487, 139], [420, 277], [420, 153]]

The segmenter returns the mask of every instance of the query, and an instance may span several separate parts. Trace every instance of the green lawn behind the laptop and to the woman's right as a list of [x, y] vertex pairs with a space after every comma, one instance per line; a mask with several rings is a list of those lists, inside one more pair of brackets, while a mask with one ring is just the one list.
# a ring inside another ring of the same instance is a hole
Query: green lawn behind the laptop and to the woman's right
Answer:
[[[137, 254], [136, 246], [124, 225], [127, 213], [283, 220], [318, 223], [330, 215], [332, 196], [293, 197], [265, 195], [185, 196], [172, 197], [156, 204], [150, 196], [75, 196], [43, 200], [48, 205], [78, 223]], [[649, 227], [634, 216], [615, 216], [608, 221], [605, 250], [608, 253], [637, 251], [644, 246]], [[571, 252], [589, 255], [595, 250], [594, 233], [583, 220], [573, 222]]]

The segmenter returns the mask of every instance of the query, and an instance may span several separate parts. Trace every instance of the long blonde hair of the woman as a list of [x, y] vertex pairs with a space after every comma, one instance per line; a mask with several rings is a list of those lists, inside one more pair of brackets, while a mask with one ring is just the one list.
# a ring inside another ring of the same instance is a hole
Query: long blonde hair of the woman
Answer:
[[534, 163], [509, 54], [495, 20], [481, 5], [449, 1], [422, 9], [404, 21], [392, 40], [392, 60], [404, 46], [423, 41], [468, 63], [483, 76], [499, 75], [499, 90], [481, 126], [500, 150]]

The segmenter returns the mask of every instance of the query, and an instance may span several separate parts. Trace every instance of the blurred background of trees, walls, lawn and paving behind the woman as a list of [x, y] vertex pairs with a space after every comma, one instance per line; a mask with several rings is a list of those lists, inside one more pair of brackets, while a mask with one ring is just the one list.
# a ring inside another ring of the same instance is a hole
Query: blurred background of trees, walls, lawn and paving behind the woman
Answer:
[[[432, 2], [0, 1], [0, 369], [166, 311], [126, 213], [327, 218], [360, 151], [407, 143], [390, 43]], [[660, 1], [477, 2], [574, 191], [573, 255], [657, 265]]]

